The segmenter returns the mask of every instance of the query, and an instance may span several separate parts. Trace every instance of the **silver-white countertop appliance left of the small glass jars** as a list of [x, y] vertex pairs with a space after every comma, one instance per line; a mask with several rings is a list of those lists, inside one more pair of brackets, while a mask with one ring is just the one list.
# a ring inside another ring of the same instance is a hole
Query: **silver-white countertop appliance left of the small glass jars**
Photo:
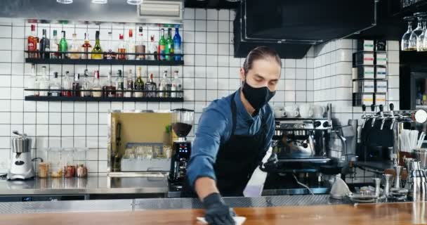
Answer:
[[18, 135], [18, 137], [12, 139], [11, 168], [7, 178], [9, 180], [31, 179], [34, 177], [31, 139], [27, 138], [27, 134], [19, 134], [18, 131], [13, 131], [13, 134]]

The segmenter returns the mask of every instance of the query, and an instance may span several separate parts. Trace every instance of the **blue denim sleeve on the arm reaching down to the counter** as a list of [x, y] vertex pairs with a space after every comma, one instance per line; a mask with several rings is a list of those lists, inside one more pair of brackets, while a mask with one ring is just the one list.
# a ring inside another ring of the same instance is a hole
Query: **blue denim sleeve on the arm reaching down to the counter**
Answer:
[[213, 165], [226, 127], [225, 115], [214, 107], [209, 107], [200, 117], [187, 171], [192, 187], [199, 177], [216, 180]]

